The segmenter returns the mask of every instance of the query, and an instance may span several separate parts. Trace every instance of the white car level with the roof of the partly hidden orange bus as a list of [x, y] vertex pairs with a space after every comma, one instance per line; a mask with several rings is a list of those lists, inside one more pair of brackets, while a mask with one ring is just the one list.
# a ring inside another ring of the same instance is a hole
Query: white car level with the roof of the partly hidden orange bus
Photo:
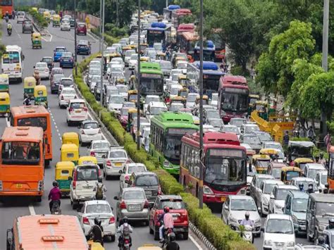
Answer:
[[66, 110], [66, 123], [82, 122], [87, 120], [88, 109], [84, 99], [72, 99]]

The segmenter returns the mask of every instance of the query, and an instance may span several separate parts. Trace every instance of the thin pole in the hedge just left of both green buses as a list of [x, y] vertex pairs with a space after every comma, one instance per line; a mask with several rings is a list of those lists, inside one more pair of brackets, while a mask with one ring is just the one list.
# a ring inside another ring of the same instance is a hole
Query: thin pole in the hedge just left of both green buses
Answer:
[[140, 150], [140, 0], [138, 0], [138, 44], [137, 44], [137, 150]]

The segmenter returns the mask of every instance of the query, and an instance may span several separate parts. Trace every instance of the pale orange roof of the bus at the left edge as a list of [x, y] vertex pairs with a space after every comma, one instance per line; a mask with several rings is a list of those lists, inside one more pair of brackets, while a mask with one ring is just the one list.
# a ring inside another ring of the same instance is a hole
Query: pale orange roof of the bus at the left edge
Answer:
[[3, 142], [41, 142], [42, 127], [5, 127], [2, 134]]

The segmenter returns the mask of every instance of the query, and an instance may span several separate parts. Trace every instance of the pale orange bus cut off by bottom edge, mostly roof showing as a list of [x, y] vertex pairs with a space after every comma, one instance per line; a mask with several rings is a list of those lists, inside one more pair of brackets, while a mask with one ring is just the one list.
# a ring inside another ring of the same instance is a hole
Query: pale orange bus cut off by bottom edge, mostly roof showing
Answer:
[[7, 249], [82, 249], [89, 246], [77, 216], [25, 215], [7, 230]]

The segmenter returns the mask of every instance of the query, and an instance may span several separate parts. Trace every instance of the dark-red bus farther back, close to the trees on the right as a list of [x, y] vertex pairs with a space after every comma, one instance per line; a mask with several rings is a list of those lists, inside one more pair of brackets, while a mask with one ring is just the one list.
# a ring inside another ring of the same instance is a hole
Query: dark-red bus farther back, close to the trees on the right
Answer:
[[245, 77], [224, 75], [218, 89], [218, 111], [225, 123], [230, 118], [247, 116], [249, 105], [249, 88]]

